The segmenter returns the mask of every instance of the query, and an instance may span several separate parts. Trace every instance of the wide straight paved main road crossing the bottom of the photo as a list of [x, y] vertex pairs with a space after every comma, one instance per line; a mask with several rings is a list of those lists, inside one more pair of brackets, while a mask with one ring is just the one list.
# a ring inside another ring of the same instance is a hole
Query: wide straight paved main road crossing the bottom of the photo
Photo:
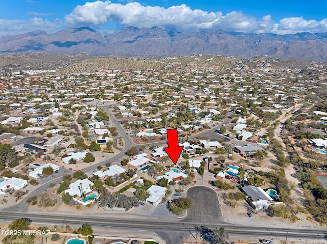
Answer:
[[[21, 218], [21, 213], [2, 212], [0, 215], [0, 223], [9, 223], [12, 220]], [[47, 215], [40, 214], [24, 214], [24, 218], [28, 218], [35, 225], [62, 226], [64, 225], [64, 215], [55, 215], [49, 212]], [[195, 233], [195, 226], [205, 226], [207, 228], [225, 228], [230, 236], [244, 238], [269, 238], [269, 239], [284, 239], [288, 231], [288, 238], [313, 240], [317, 242], [325, 242], [327, 230], [325, 228], [274, 228], [270, 226], [244, 226], [230, 225], [224, 223], [191, 223], [191, 222], [172, 222], [162, 219], [115, 219], [101, 218], [89, 216], [67, 216], [67, 224], [73, 228], [80, 227], [82, 224], [89, 223], [95, 230], [106, 227], [114, 232], [115, 229], [124, 228], [126, 231], [154, 231], [159, 234], [167, 244], [177, 244], [182, 242], [182, 238], [190, 235], [190, 232]], [[268, 223], [267, 223], [268, 224]], [[190, 231], [190, 232], [189, 232]], [[104, 232], [108, 234], [108, 232]]]

